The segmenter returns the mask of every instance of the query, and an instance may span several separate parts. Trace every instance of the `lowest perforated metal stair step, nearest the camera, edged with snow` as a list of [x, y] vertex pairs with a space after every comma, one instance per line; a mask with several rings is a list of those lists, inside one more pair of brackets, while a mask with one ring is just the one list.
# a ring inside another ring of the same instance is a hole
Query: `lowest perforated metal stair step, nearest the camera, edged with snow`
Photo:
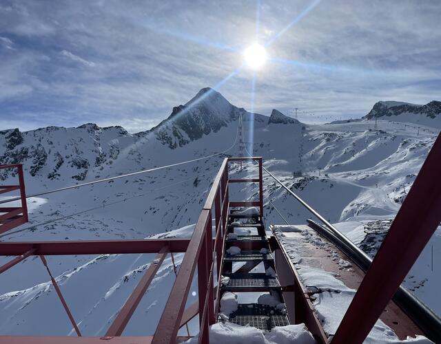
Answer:
[[[225, 323], [224, 319], [218, 319]], [[238, 310], [229, 315], [230, 323], [242, 326], [253, 326], [260, 330], [269, 331], [276, 326], [289, 325], [288, 317], [269, 305], [258, 303], [240, 304]]]

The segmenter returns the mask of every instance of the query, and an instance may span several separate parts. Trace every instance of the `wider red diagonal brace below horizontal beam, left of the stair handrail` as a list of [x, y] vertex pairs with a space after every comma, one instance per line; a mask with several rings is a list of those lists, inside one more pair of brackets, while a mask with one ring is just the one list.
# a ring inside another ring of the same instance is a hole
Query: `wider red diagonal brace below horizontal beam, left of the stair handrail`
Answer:
[[116, 316], [116, 319], [113, 321], [112, 325], [110, 325], [109, 330], [105, 333], [106, 336], [121, 336], [125, 326], [132, 317], [136, 307], [138, 307], [139, 302], [143, 298], [147, 288], [149, 288], [150, 283], [152, 283], [156, 272], [158, 272], [168, 252], [169, 250], [167, 246], [164, 246], [158, 252], [152, 264], [150, 264], [145, 271], [143, 278], [139, 281], [138, 286], [136, 286], [129, 299], [125, 302], [125, 305], [123, 305], [123, 308], [119, 311], [118, 316]]

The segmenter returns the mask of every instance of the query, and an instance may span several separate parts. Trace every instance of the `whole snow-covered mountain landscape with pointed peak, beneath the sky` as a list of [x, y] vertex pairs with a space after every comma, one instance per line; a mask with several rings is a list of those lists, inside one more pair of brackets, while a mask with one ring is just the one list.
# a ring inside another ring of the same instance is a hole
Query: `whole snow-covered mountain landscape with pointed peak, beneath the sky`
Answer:
[[[141, 133], [92, 124], [1, 131], [0, 163], [23, 163], [26, 189], [37, 193], [203, 157], [229, 147], [227, 154], [238, 155], [239, 115], [243, 116], [245, 141], [252, 142], [247, 149], [263, 156], [267, 169], [367, 248], [371, 247], [366, 244], [371, 231], [364, 226], [372, 228], [369, 223], [396, 215], [439, 131], [436, 125], [409, 125], [389, 121], [390, 117], [379, 118], [380, 131], [372, 130], [369, 118], [306, 125], [277, 110], [269, 117], [249, 114], [218, 92], [202, 89], [188, 103], [175, 107], [160, 125]], [[249, 129], [251, 118], [253, 130]], [[30, 224], [0, 235], [0, 240], [189, 237], [224, 156], [33, 197], [28, 200]], [[230, 171], [231, 176], [251, 173], [254, 168], [247, 164], [243, 171], [237, 166]], [[2, 178], [8, 184], [15, 177], [4, 173]], [[265, 202], [271, 200], [291, 224], [304, 224], [309, 213], [274, 180], [265, 176], [264, 183]], [[251, 184], [236, 184], [231, 192], [231, 199], [235, 193], [241, 195], [237, 199], [244, 194], [252, 199], [256, 190]], [[282, 223], [269, 204], [265, 217], [267, 224]], [[433, 236], [432, 244], [434, 255], [440, 255], [440, 233]], [[182, 255], [175, 259], [179, 263]], [[413, 289], [441, 313], [441, 301], [433, 297], [441, 266], [433, 266], [432, 271], [426, 259], [424, 251], [406, 283], [422, 283]], [[6, 260], [1, 257], [0, 264]], [[80, 330], [90, 335], [105, 333], [151, 261], [152, 255], [48, 259]], [[168, 257], [124, 334], [152, 334], [173, 281]], [[197, 286], [192, 290], [197, 291]], [[189, 303], [196, 300], [190, 295]], [[39, 316], [43, 307], [53, 314], [51, 321]], [[0, 275], [0, 310], [2, 334], [72, 332], [38, 259], [27, 259]]]

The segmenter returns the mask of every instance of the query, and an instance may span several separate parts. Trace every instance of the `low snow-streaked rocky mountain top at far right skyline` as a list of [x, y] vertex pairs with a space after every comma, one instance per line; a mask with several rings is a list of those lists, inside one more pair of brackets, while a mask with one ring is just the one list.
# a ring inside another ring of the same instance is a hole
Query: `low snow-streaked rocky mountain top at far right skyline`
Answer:
[[367, 120], [382, 118], [395, 122], [411, 122], [441, 128], [441, 102], [433, 100], [426, 105], [396, 101], [380, 101], [373, 105]]

